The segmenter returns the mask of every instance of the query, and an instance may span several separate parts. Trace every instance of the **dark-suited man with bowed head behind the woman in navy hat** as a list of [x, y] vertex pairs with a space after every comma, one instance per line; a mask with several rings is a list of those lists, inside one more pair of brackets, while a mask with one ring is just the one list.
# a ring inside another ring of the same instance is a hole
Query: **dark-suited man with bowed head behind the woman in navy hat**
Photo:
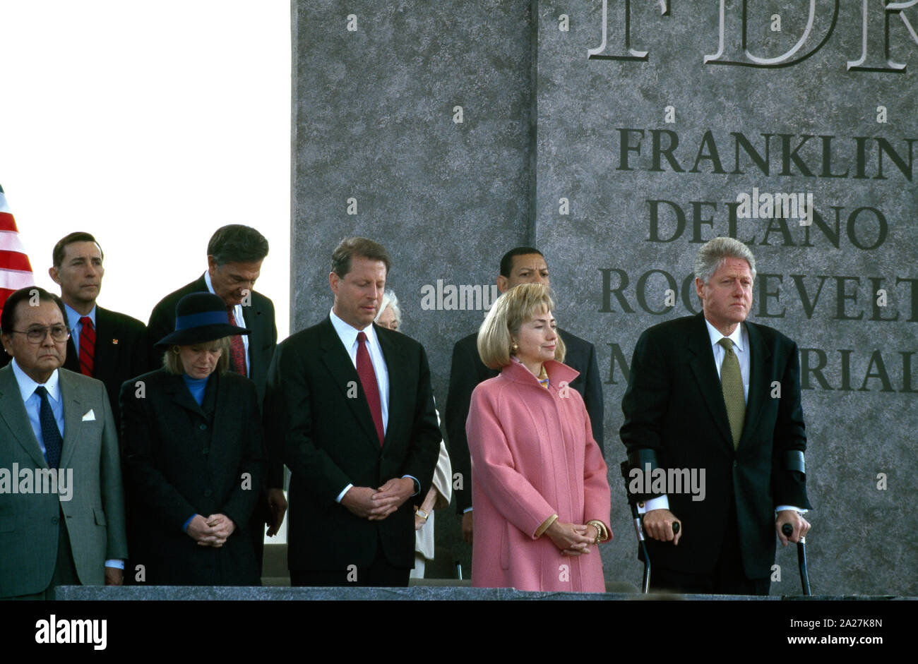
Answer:
[[[162, 350], [156, 349], [155, 344], [174, 332], [178, 301], [188, 293], [217, 294], [227, 305], [228, 322], [251, 330], [248, 337], [233, 337], [229, 349], [229, 370], [252, 379], [261, 405], [268, 366], [277, 345], [277, 327], [274, 325], [274, 303], [252, 289], [267, 255], [268, 240], [254, 228], [239, 224], [218, 228], [207, 243], [207, 271], [196, 281], [169, 293], [153, 307], [147, 324], [151, 368], [162, 366]], [[279, 458], [268, 457], [264, 484], [263, 500], [255, 509], [249, 525], [259, 570], [264, 525], [268, 526], [268, 537], [274, 537], [286, 512], [284, 464]]]

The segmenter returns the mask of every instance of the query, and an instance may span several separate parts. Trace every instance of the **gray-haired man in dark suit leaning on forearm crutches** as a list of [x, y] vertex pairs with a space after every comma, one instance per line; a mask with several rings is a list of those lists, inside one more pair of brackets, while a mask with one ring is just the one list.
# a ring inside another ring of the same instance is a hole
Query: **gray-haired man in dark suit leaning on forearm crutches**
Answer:
[[[768, 594], [775, 531], [787, 546], [810, 528], [801, 515], [810, 504], [798, 349], [777, 330], [745, 322], [756, 260], [742, 242], [703, 245], [695, 277], [702, 313], [644, 331], [621, 401], [621, 441], [640, 470], [631, 490], [650, 537], [651, 583]], [[697, 472], [700, 493], [675, 481], [665, 494], [646, 491], [644, 474], [664, 470], [674, 479], [676, 470]]]

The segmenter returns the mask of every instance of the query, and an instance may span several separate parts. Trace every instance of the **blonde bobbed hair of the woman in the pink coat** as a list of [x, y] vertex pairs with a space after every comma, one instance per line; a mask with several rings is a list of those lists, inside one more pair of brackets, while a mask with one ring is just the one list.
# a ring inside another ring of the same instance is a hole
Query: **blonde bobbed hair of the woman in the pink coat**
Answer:
[[[511, 334], [519, 334], [523, 324], [536, 314], [554, 311], [554, 298], [543, 283], [521, 283], [498, 297], [478, 329], [478, 355], [490, 369], [500, 369], [510, 363], [513, 343]], [[565, 360], [565, 342], [558, 335], [554, 359]]]

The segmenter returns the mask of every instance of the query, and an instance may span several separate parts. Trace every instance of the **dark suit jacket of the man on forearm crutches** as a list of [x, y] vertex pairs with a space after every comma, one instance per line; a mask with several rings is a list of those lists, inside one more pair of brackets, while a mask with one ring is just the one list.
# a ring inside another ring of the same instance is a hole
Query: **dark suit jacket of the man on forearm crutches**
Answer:
[[677, 547], [648, 540], [655, 566], [711, 573], [733, 503], [746, 576], [766, 578], [775, 560], [775, 507], [810, 507], [804, 476], [785, 463], [786, 452], [806, 448], [797, 344], [771, 327], [744, 325], [749, 396], [735, 451], [703, 315], [650, 327], [634, 348], [621, 441], [629, 452], [655, 450], [661, 468], [705, 469], [704, 500], [669, 494], [684, 534]]

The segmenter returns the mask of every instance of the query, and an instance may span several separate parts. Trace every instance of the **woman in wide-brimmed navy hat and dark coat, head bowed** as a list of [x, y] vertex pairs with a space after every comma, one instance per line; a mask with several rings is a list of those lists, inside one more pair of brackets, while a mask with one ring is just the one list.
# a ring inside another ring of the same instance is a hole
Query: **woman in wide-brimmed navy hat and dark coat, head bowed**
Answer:
[[121, 386], [121, 445], [129, 497], [126, 581], [260, 585], [243, 532], [263, 472], [255, 384], [231, 373], [229, 325], [212, 293], [185, 295], [163, 366]]

